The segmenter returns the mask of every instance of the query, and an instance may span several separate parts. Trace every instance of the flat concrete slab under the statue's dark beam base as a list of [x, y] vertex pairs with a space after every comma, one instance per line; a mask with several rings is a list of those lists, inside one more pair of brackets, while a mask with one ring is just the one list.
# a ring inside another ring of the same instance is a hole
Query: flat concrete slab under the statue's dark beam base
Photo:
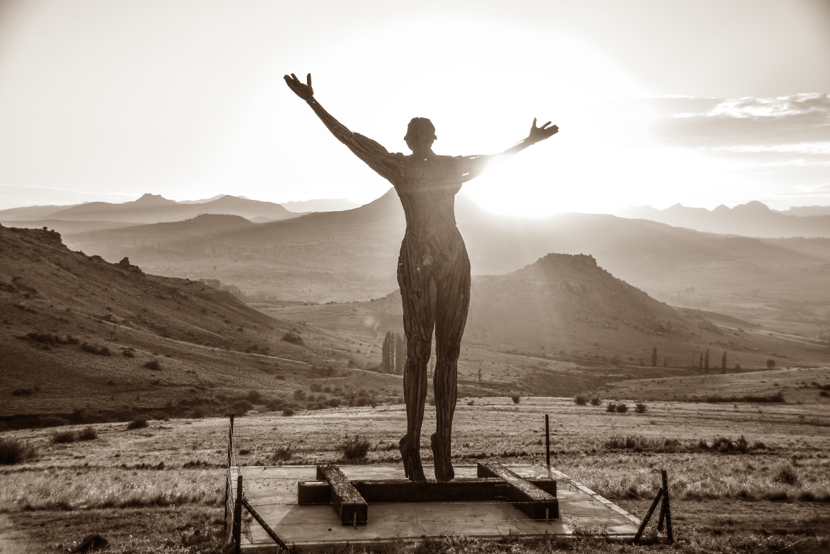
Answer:
[[[330, 506], [299, 506], [297, 482], [314, 480], [315, 465], [241, 466], [244, 497], [289, 547], [303, 551], [383, 542], [420, 541], [424, 538], [466, 535], [499, 539], [544, 535], [569, 536], [603, 530], [609, 536], [632, 538], [640, 520], [616, 504], [593, 493], [567, 475], [544, 465], [510, 465], [529, 478], [557, 479], [558, 520], [538, 522], [527, 518], [509, 502], [496, 503], [370, 503], [369, 523], [356, 529], [341, 525]], [[343, 465], [349, 479], [405, 479], [403, 465]], [[458, 477], [476, 477], [476, 466], [456, 466]], [[424, 466], [427, 479], [432, 467]], [[234, 472], [235, 473], [235, 472]], [[242, 551], [280, 552], [256, 520], [243, 509]]]

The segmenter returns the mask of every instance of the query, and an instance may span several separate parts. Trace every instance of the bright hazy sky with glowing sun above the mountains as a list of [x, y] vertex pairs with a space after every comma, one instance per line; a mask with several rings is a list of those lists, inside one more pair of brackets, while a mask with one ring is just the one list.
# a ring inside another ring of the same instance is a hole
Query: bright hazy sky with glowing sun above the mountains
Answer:
[[144, 192], [368, 202], [349, 129], [496, 153], [465, 185], [511, 213], [830, 204], [830, 2], [0, 2], [0, 209]]

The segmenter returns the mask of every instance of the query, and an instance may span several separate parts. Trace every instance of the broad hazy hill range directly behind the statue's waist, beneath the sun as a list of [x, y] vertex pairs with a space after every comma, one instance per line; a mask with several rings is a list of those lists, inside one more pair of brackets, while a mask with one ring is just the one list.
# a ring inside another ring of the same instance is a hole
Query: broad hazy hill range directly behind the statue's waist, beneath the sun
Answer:
[[[406, 224], [393, 190], [354, 210], [256, 226], [214, 230], [197, 220], [87, 232], [66, 241], [108, 260], [129, 255], [165, 275], [221, 279], [261, 299], [367, 299], [397, 288]], [[601, 214], [520, 219], [482, 211], [463, 195], [457, 197], [457, 223], [474, 275], [514, 271], [549, 252], [591, 254], [613, 275], [689, 307], [710, 309], [758, 291], [830, 302], [830, 239], [724, 236]], [[222, 254], [231, 245], [233, 255]], [[176, 262], [184, 251], [193, 254]], [[828, 314], [819, 310], [817, 317]]]

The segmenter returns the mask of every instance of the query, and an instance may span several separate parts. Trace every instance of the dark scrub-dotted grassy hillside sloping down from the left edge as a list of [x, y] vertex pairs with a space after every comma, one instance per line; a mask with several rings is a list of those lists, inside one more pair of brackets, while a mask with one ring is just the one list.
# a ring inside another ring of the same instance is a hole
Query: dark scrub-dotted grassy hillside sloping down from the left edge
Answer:
[[291, 401], [324, 376], [344, 394], [399, 383], [348, 369], [361, 343], [72, 252], [51, 231], [0, 226], [0, 313], [0, 416], [215, 411], [251, 390]]

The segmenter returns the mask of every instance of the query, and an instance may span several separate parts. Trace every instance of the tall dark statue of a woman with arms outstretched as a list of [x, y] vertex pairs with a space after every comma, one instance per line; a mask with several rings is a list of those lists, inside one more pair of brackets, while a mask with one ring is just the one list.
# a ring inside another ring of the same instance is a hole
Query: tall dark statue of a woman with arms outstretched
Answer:
[[403, 466], [409, 479], [426, 480], [421, 464], [421, 425], [427, 399], [427, 362], [435, 330], [436, 364], [433, 387], [436, 432], [430, 440], [435, 475], [449, 481], [452, 415], [457, 401], [457, 365], [467, 310], [470, 307], [470, 260], [456, 227], [455, 195], [461, 184], [480, 175], [493, 158], [509, 156], [548, 139], [559, 129], [550, 122], [536, 126], [512, 148], [491, 156], [439, 156], [432, 152], [437, 139], [429, 119], [414, 118], [403, 138], [412, 155], [389, 153], [362, 134], [352, 133], [314, 98], [311, 75], [302, 83], [294, 74], [286, 83], [305, 100], [332, 134], [358, 158], [391, 182], [406, 215], [407, 230], [398, 258], [398, 284], [403, 297], [403, 329], [407, 335], [407, 362], [403, 367], [403, 397], [407, 406], [407, 434], [401, 439]]

